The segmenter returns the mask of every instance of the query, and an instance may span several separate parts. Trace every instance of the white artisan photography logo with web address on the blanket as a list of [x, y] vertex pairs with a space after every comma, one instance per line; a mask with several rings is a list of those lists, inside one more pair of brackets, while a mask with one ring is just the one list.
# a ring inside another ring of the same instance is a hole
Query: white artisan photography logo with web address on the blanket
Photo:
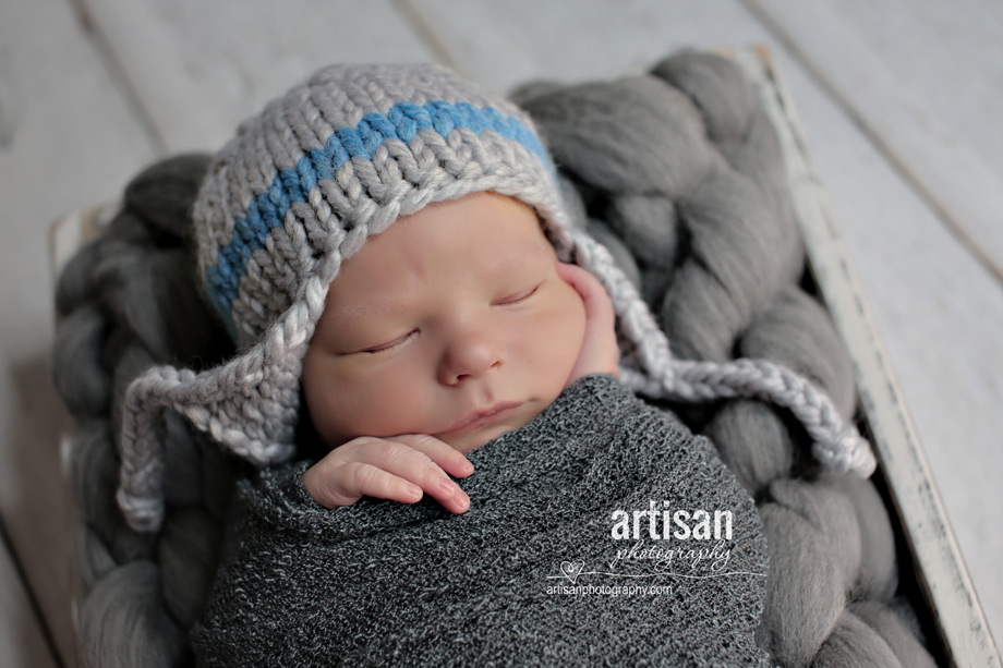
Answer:
[[547, 575], [547, 594], [665, 595], [686, 580], [764, 578], [728, 568], [734, 520], [730, 510], [673, 509], [665, 500], [614, 510], [608, 558], [596, 559], [594, 566], [582, 558], [561, 561], [558, 572]]

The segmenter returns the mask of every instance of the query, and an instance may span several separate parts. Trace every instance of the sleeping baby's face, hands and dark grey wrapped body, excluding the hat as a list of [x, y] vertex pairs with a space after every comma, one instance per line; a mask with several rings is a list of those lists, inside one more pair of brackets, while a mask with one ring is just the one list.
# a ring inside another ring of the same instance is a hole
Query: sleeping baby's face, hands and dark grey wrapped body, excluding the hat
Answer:
[[618, 384], [609, 299], [532, 207], [431, 204], [326, 302], [303, 394], [334, 449], [242, 487], [203, 665], [766, 658], [751, 499]]

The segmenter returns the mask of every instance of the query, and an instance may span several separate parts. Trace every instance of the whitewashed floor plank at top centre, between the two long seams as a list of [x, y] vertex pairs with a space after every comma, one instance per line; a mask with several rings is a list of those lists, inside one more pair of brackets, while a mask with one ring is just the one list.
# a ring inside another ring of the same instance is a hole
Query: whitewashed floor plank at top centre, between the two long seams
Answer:
[[579, 82], [641, 71], [681, 47], [769, 39], [732, 0], [401, 0], [443, 59], [496, 90], [536, 78]]

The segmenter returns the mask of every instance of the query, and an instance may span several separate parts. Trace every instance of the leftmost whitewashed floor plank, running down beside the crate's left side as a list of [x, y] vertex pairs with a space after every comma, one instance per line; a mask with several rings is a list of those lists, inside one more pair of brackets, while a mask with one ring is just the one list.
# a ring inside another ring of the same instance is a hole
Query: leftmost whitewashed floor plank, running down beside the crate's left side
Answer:
[[[154, 155], [70, 3], [0, 3], [0, 517], [68, 666], [72, 532], [58, 458], [62, 412], [49, 380], [47, 230], [57, 216], [118, 193]], [[19, 616], [20, 600], [10, 599]], [[26, 629], [11, 627], [15, 642], [27, 642]], [[44, 657], [0, 663], [48, 665]]]

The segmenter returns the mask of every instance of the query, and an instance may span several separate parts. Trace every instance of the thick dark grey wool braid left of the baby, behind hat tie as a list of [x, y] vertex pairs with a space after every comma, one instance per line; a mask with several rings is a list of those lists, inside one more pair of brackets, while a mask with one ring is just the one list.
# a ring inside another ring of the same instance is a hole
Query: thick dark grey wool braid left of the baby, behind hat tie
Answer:
[[[234, 462], [167, 413], [167, 503], [159, 534], [129, 526], [114, 500], [125, 388], [154, 364], [215, 365], [229, 338], [195, 286], [191, 204], [208, 163], [181, 156], [138, 174], [110, 229], [67, 265], [55, 380], [80, 430], [70, 477], [77, 531], [84, 665], [181, 666], [218, 561]], [[150, 299], [156, 295], [156, 299]]]

